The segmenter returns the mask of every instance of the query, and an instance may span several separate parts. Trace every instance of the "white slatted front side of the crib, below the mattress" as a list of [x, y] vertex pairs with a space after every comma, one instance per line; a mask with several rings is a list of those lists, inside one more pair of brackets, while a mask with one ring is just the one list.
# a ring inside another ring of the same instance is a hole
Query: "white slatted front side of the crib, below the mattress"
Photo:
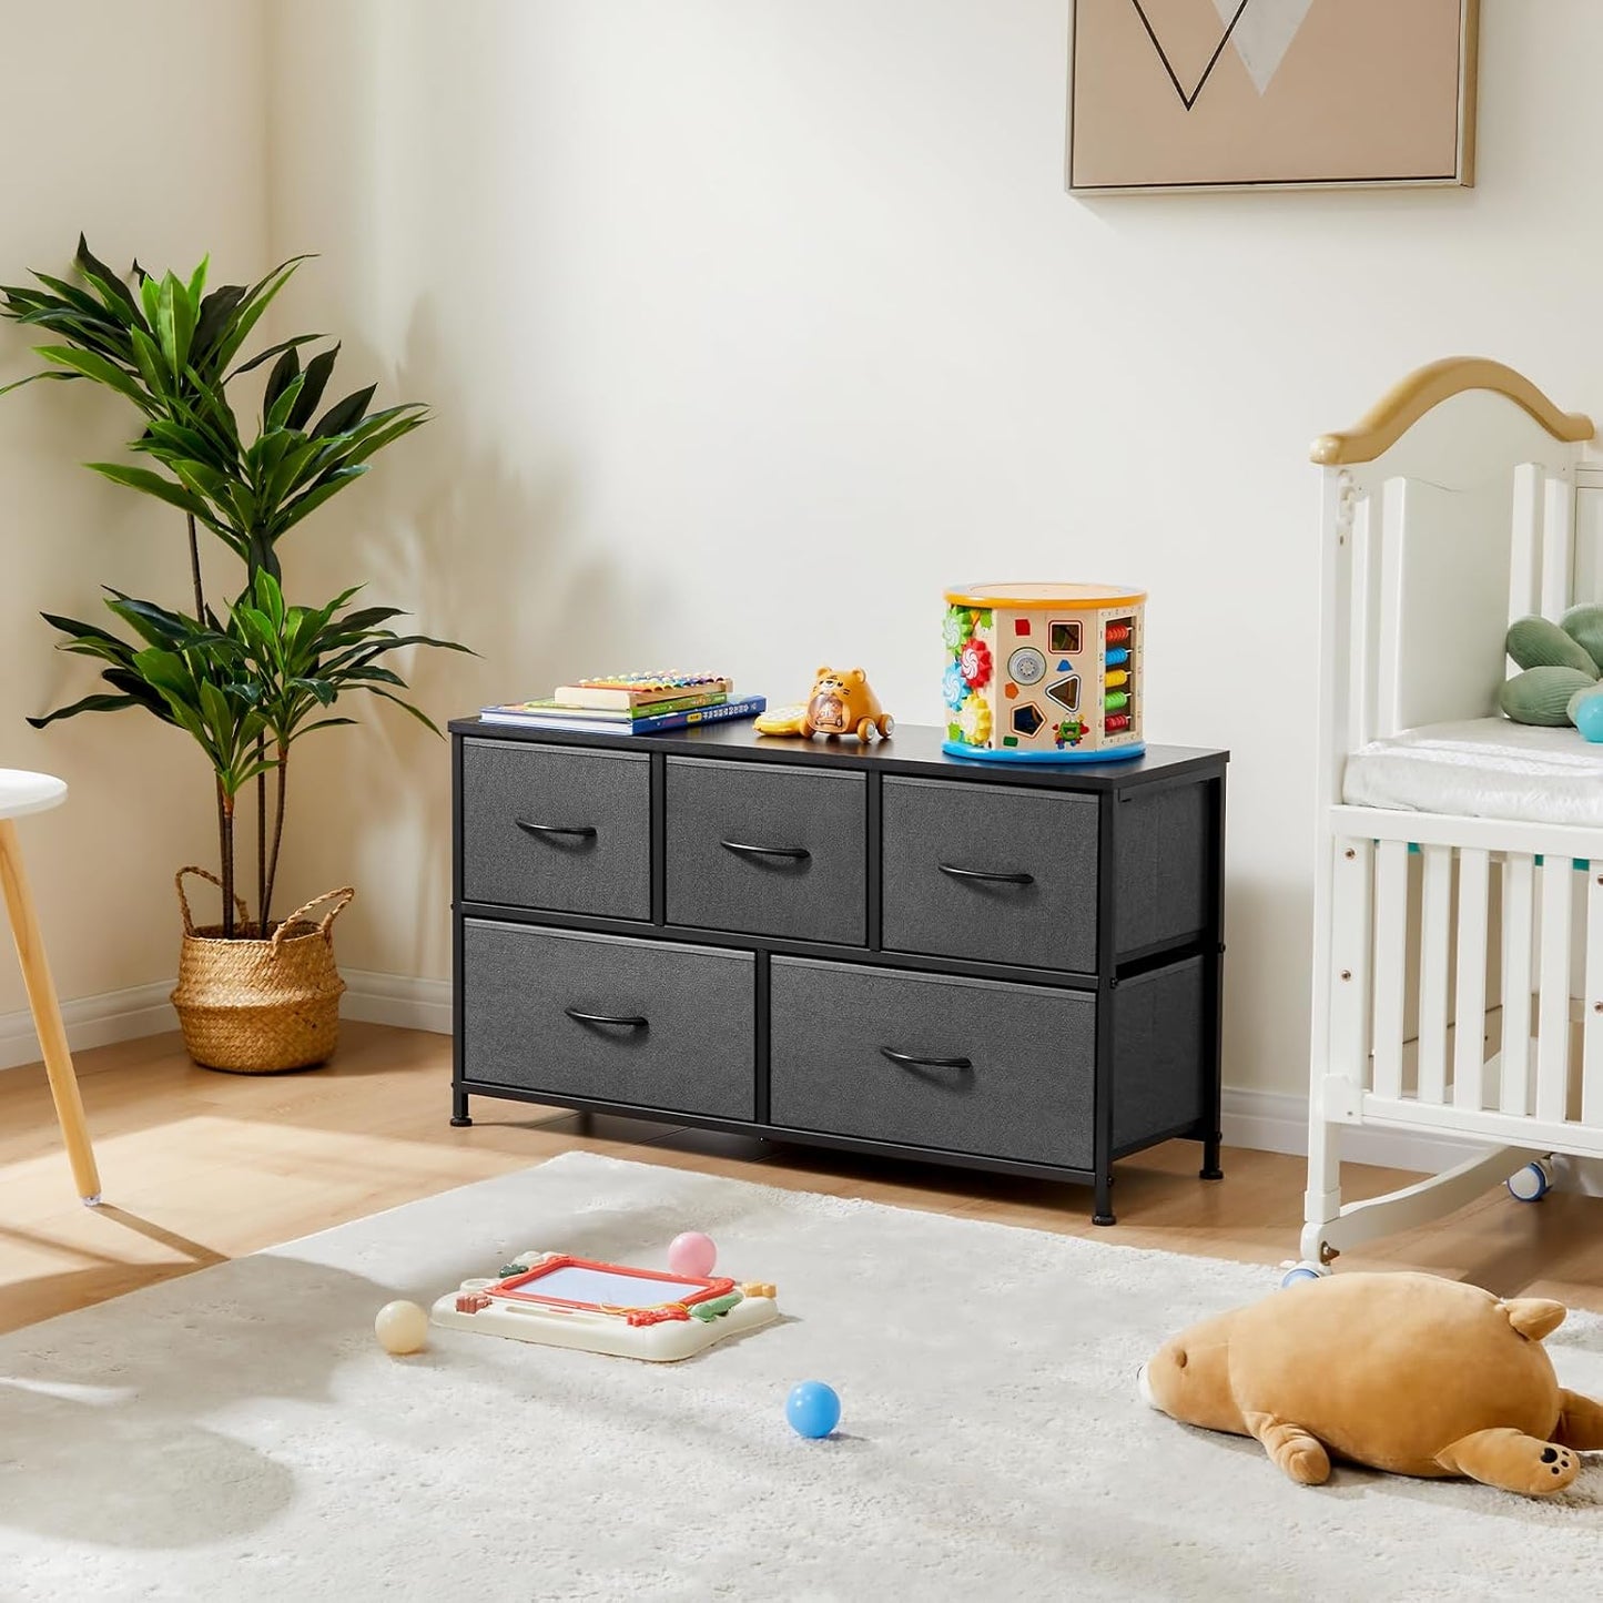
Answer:
[[1327, 1116], [1603, 1154], [1598, 832], [1374, 808], [1332, 824]]

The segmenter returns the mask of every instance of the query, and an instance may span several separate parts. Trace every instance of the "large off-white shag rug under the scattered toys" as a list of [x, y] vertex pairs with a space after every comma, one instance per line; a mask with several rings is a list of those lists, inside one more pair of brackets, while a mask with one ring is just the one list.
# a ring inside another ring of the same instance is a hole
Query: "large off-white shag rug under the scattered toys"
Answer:
[[[688, 1228], [785, 1321], [683, 1364], [373, 1340], [519, 1249], [662, 1266]], [[1603, 1459], [1548, 1502], [1303, 1489], [1141, 1406], [1172, 1330], [1273, 1287], [574, 1153], [0, 1339], [0, 1598], [1598, 1595]], [[1603, 1319], [1548, 1348], [1603, 1395]], [[802, 1379], [835, 1438], [785, 1423]]]

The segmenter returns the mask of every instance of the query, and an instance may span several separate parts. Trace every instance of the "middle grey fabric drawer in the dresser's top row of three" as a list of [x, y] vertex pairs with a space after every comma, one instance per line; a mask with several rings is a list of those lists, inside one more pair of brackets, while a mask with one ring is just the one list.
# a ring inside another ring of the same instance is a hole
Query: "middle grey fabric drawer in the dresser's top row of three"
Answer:
[[858, 773], [668, 758], [668, 923], [862, 946]]

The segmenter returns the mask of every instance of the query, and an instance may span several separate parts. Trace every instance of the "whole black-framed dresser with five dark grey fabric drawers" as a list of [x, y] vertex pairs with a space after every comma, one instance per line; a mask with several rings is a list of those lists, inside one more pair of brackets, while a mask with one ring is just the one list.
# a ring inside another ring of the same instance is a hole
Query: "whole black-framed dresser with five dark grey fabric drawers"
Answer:
[[450, 734], [452, 1124], [665, 1116], [1088, 1183], [1100, 1225], [1140, 1148], [1218, 1177], [1225, 752]]

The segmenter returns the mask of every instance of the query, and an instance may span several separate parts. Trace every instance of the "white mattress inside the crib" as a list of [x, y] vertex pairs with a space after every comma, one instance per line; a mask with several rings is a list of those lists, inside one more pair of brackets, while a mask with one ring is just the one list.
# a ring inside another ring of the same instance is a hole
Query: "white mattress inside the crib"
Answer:
[[1433, 723], [1347, 760], [1350, 806], [1603, 829], [1603, 745], [1507, 718]]

